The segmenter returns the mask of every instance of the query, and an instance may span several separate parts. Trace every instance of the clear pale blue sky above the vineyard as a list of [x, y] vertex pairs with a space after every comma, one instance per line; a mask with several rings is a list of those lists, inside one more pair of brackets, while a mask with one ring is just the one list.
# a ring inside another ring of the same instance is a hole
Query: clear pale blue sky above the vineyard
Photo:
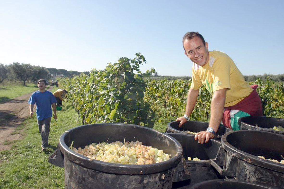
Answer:
[[243, 75], [284, 73], [283, 0], [1, 0], [0, 63], [74, 71], [145, 56], [141, 71], [191, 76], [182, 37], [198, 31]]

